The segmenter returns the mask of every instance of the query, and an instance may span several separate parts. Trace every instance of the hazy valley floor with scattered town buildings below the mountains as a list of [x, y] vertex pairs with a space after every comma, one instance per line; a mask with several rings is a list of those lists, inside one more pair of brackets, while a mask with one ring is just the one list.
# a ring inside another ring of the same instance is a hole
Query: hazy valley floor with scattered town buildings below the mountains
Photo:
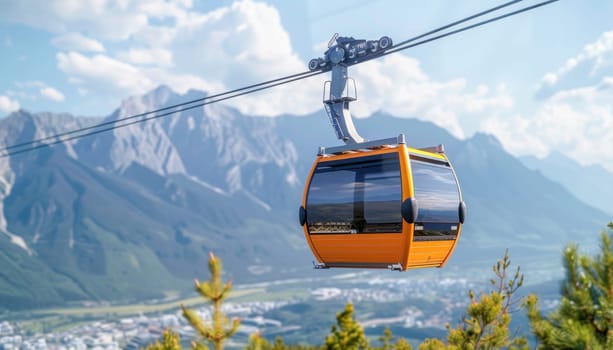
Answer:
[[[553, 308], [562, 277], [559, 264], [551, 260], [524, 263], [526, 281], [517, 300], [536, 293], [545, 310]], [[516, 265], [512, 268], [514, 272]], [[493, 277], [487, 265], [466, 262], [405, 273], [305, 269], [297, 275], [303, 277], [234, 286], [224, 312], [239, 318], [241, 327], [229, 348], [244, 348], [249, 335], [256, 332], [269, 340], [280, 336], [289, 344], [321, 344], [336, 313], [348, 302], [354, 304], [355, 318], [373, 344], [386, 327], [414, 345], [426, 338], [444, 338], [447, 324], [455, 327], [461, 322], [470, 302], [468, 291], [489, 292], [488, 281]], [[211, 317], [209, 305], [195, 294], [130, 304], [97, 302], [5, 312], [0, 316], [0, 325], [4, 325], [0, 326], [0, 345], [4, 349], [138, 349], [159, 339], [166, 328], [189, 344], [195, 334], [181, 315], [180, 305], [197, 310], [205, 321]], [[529, 333], [519, 306], [513, 313], [512, 329]]]

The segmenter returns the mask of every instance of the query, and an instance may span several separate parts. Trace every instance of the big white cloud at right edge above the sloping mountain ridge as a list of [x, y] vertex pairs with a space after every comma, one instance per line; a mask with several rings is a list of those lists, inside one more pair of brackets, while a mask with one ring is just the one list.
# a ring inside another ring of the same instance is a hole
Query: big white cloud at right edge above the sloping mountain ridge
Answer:
[[613, 171], [613, 32], [605, 32], [541, 80], [531, 115], [491, 117], [481, 128], [511, 153], [556, 150]]

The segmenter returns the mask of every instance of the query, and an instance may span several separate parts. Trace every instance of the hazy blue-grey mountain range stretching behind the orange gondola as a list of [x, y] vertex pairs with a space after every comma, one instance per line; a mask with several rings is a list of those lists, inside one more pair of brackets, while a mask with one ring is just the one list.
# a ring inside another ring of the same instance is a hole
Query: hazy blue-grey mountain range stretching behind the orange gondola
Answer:
[[[204, 96], [162, 86], [104, 118], [20, 110], [0, 120], [0, 147]], [[559, 259], [610, 221], [490, 135], [459, 140], [384, 113], [355, 122], [370, 139], [445, 145], [469, 208], [451, 268], [490, 266], [505, 248], [520, 262]], [[316, 273], [297, 209], [333, 136], [323, 109], [264, 118], [211, 104], [0, 158], [0, 308], [176, 295], [202, 277], [209, 252], [240, 282]]]

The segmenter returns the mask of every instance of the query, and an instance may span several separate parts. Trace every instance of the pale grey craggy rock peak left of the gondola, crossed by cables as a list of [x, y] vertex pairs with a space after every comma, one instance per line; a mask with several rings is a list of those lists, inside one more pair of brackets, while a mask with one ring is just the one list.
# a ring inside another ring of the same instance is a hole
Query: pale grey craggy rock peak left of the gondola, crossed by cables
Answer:
[[[128, 98], [106, 121], [127, 118], [118, 125], [131, 125], [84, 140], [79, 154], [109, 172], [121, 174], [138, 165], [159, 176], [182, 174], [222, 192], [249, 193], [262, 202], [268, 201], [264, 189], [273, 183], [298, 185], [296, 148], [275, 131], [274, 119], [246, 117], [222, 104], [139, 115], [205, 96], [161, 86]], [[135, 123], [142, 118], [152, 119]]]

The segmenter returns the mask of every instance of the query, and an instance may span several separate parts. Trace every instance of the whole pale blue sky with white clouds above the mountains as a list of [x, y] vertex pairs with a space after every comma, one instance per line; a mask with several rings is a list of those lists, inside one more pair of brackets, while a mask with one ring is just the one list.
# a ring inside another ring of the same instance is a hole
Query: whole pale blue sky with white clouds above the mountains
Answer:
[[[399, 42], [501, 3], [0, 0], [0, 117], [105, 116], [160, 84], [220, 92], [306, 70], [335, 32]], [[461, 138], [488, 132], [516, 155], [555, 150], [613, 170], [612, 18], [611, 1], [561, 0], [352, 67], [352, 111], [430, 120]], [[230, 104], [325, 118], [325, 79]]]

